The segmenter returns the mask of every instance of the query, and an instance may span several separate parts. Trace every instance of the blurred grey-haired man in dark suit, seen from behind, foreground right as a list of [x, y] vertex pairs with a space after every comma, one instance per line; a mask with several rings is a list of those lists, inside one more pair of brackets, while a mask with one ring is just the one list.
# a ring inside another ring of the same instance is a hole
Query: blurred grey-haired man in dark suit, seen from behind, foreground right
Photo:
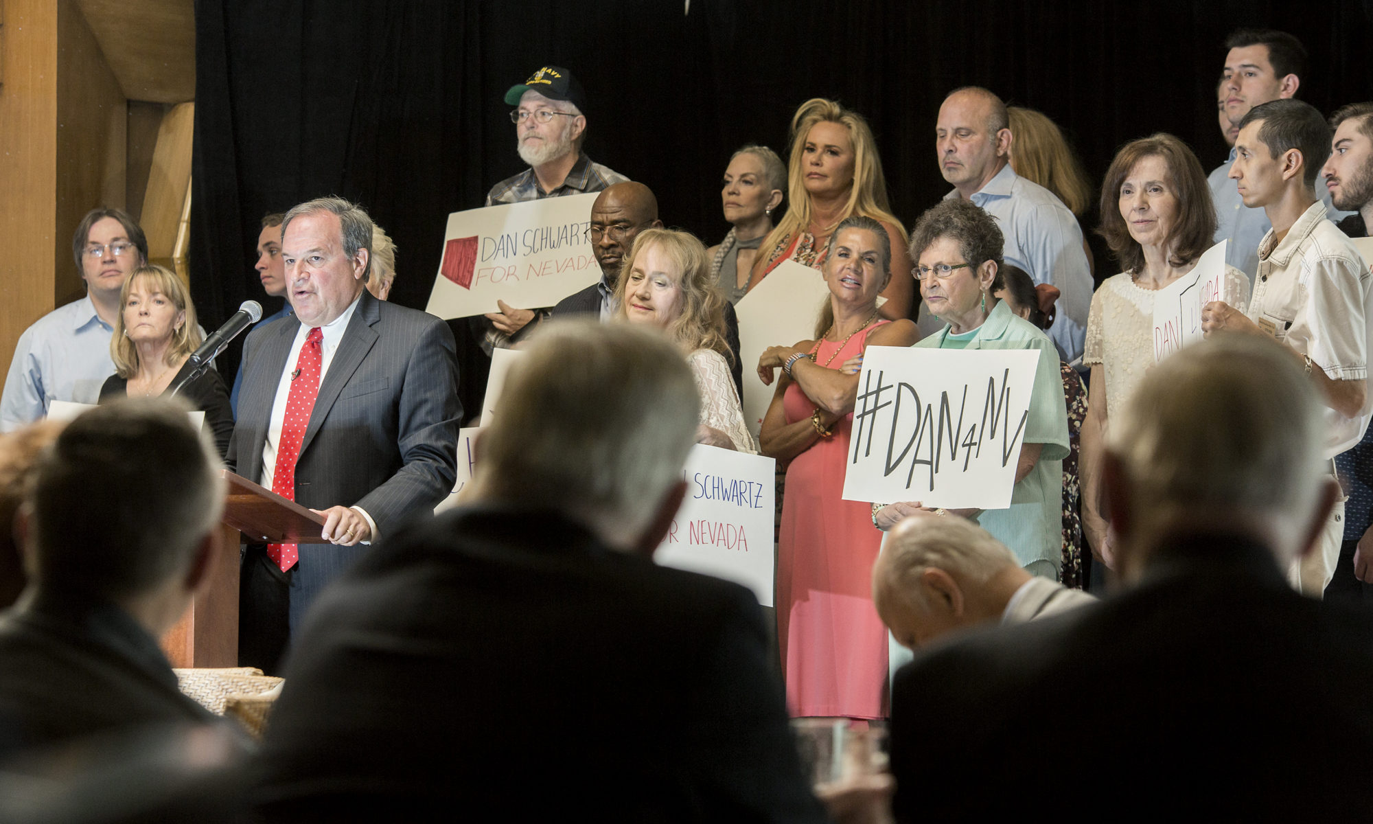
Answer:
[[1373, 626], [1285, 577], [1339, 492], [1315, 396], [1251, 335], [1144, 376], [1105, 464], [1130, 589], [903, 667], [898, 820], [1023, 814], [1035, 770], [1072, 787], [1057, 819], [1368, 817]]

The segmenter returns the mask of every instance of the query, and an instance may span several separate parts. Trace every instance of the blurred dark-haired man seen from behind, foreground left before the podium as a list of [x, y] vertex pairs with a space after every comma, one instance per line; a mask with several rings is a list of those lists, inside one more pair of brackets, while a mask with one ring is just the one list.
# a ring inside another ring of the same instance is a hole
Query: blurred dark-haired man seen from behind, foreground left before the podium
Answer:
[[220, 456], [173, 400], [71, 422], [18, 516], [29, 588], [0, 617], [0, 759], [144, 725], [207, 724], [158, 639], [220, 547]]

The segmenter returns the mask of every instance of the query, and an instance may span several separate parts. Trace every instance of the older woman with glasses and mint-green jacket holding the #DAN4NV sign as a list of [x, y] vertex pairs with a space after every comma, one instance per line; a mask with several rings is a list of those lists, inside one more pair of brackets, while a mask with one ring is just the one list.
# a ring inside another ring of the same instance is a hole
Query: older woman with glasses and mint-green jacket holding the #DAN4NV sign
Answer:
[[1068, 413], [1059, 352], [1048, 335], [997, 299], [1002, 235], [995, 220], [968, 201], [949, 199], [920, 216], [910, 236], [920, 297], [945, 327], [916, 346], [930, 349], [1034, 349], [1039, 353], [1030, 417], [1005, 510], [931, 510], [920, 501], [875, 504], [872, 520], [891, 529], [908, 516], [965, 516], [1005, 544], [1027, 571], [1059, 578], [1063, 459]]

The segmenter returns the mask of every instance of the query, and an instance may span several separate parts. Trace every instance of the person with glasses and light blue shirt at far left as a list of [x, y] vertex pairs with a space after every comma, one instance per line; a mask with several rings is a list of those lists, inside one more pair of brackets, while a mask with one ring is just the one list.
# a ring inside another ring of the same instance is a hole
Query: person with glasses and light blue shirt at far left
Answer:
[[0, 431], [48, 413], [52, 401], [93, 404], [114, 375], [110, 335], [119, 290], [147, 262], [143, 229], [122, 209], [92, 209], [71, 238], [86, 295], [38, 319], [19, 335], [0, 397]]

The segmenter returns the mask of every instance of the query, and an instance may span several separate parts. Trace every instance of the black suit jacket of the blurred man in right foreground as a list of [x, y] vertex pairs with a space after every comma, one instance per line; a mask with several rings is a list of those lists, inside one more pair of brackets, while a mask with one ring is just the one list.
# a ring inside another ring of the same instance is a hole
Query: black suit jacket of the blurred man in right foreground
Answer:
[[899, 821], [1368, 820], [1373, 621], [1263, 547], [1179, 541], [1134, 591], [902, 667], [891, 765]]

